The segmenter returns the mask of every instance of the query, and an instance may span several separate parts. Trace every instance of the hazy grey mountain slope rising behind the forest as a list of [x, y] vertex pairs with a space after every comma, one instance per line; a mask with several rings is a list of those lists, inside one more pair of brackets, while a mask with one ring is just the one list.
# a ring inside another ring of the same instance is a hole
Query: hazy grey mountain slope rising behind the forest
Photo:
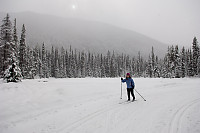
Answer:
[[[0, 13], [0, 18], [5, 13]], [[154, 46], [155, 53], [164, 55], [167, 45], [134, 31], [119, 28], [101, 22], [73, 18], [61, 18], [32, 12], [10, 13], [11, 19], [17, 18], [18, 35], [24, 23], [27, 30], [27, 44], [36, 45], [45, 42], [68, 48], [70, 45], [78, 50], [105, 53], [115, 50], [117, 53], [136, 55], [141, 51], [148, 55]]]

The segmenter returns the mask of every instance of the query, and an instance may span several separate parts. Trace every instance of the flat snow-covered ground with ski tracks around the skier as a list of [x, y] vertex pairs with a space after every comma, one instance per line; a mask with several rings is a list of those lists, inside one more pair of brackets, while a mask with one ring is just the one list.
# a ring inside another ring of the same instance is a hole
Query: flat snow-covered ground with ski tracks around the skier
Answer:
[[200, 133], [200, 79], [0, 80], [0, 133]]

